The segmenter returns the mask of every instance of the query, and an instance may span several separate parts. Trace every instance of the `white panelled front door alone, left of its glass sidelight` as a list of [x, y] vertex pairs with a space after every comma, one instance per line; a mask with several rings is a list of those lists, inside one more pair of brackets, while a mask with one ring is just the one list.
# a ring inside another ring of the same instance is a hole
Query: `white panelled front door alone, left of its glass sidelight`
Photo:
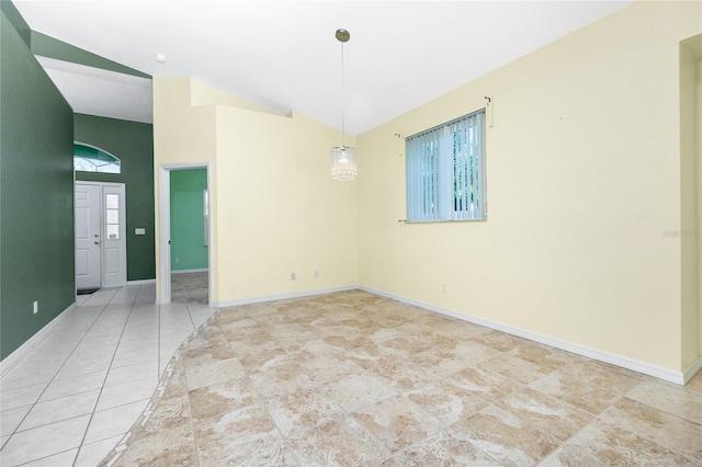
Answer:
[[76, 184], [76, 288], [102, 286], [101, 210], [102, 187]]

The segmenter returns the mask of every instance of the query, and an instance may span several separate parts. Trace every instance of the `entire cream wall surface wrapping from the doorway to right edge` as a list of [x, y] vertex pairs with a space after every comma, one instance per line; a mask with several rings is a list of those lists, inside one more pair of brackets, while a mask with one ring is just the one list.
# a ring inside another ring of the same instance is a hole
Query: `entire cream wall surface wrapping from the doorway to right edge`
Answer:
[[[680, 372], [702, 342], [697, 265], [683, 261], [697, 243], [664, 232], [699, 217], [680, 41], [702, 32], [701, 18], [699, 2], [627, 7], [359, 136], [352, 183], [329, 176], [337, 130], [156, 78], [155, 163], [212, 164], [216, 303], [358, 283]], [[480, 109], [485, 95], [488, 220], [398, 223], [395, 134]], [[695, 320], [697, 335], [684, 328]]]

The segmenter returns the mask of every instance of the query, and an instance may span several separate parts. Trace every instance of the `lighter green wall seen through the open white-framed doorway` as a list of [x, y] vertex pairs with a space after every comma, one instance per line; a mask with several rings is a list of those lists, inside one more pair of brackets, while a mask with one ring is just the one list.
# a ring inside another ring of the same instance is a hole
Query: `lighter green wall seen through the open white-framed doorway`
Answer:
[[207, 269], [205, 169], [171, 170], [171, 271]]

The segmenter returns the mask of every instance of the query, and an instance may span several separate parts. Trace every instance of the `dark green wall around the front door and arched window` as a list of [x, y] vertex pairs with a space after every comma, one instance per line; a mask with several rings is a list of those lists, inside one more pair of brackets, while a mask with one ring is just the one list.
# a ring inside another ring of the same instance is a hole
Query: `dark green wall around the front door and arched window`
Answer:
[[[122, 173], [77, 171], [76, 180], [125, 184], [127, 281], [155, 278], [154, 125], [76, 114], [75, 139], [105, 150], [122, 161]], [[135, 235], [137, 228], [146, 229], [146, 235]]]

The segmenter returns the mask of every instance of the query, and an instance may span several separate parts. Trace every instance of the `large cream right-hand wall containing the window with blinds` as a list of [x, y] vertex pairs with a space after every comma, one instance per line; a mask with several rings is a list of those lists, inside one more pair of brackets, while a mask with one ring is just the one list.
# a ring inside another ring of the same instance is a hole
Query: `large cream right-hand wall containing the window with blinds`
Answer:
[[[360, 283], [679, 372], [681, 242], [663, 234], [681, 228], [679, 42], [700, 18], [635, 3], [361, 135]], [[394, 134], [485, 95], [488, 220], [398, 224]]]

